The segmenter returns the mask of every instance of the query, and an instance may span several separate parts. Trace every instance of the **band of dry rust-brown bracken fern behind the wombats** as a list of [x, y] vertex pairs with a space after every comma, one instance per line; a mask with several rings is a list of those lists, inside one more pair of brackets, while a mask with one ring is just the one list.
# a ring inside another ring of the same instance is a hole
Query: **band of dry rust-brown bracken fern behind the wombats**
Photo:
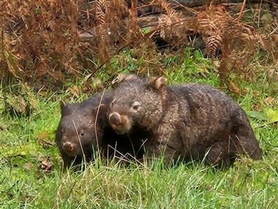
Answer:
[[[204, 43], [206, 56], [220, 59], [219, 72], [223, 78], [231, 69], [245, 68], [245, 62], [254, 54], [255, 42], [277, 57], [277, 44], [273, 44], [277, 43], [275, 33], [258, 35], [252, 27], [235, 21], [224, 6], [197, 11], [168, 2], [0, 1], [4, 26], [2, 48], [6, 51], [1, 59], [7, 60], [4, 66], [8, 66], [12, 74], [20, 74], [19, 77], [50, 76], [53, 81], [63, 81], [65, 71], [83, 76], [85, 68], [93, 74], [124, 47], [133, 50], [134, 58], [145, 56], [158, 63], [153, 42], [157, 37], [174, 49], [192, 46], [195, 37], [202, 37], [204, 42], [200, 45]], [[149, 12], [154, 14], [154, 18], [149, 18], [154, 22], [144, 31], [140, 20], [148, 20]], [[138, 13], [145, 17], [139, 18]], [[8, 60], [8, 56], [13, 61]]]

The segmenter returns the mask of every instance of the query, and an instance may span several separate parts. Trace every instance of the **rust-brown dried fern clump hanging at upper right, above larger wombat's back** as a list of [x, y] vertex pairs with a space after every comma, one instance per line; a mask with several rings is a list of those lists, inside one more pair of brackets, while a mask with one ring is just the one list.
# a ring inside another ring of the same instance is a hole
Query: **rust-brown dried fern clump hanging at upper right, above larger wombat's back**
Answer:
[[222, 6], [209, 6], [197, 12], [198, 18], [191, 23], [206, 44], [204, 53], [220, 59], [220, 80], [223, 84], [231, 70], [244, 70], [247, 60], [254, 54], [254, 30], [237, 22]]

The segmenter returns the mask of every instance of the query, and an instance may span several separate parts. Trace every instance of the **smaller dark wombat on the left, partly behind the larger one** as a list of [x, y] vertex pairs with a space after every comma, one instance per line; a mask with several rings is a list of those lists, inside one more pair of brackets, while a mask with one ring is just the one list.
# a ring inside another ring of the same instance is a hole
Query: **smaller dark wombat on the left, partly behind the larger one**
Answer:
[[128, 135], [117, 135], [108, 122], [111, 95], [112, 91], [106, 91], [104, 95], [97, 93], [81, 103], [60, 102], [56, 144], [64, 168], [94, 160], [97, 151], [105, 158], [141, 158], [142, 146], [132, 144]]

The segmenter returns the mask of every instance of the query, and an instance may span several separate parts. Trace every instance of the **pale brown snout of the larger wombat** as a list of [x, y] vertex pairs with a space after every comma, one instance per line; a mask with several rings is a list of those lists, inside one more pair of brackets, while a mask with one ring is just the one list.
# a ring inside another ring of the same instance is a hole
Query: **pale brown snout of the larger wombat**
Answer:
[[122, 135], [129, 132], [129, 119], [126, 116], [120, 115], [118, 112], [112, 112], [109, 115], [109, 122], [118, 134]]

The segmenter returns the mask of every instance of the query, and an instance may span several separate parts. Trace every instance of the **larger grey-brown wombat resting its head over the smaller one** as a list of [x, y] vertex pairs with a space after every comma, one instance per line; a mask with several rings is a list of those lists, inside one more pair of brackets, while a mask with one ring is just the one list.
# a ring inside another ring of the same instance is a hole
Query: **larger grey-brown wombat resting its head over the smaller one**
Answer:
[[149, 133], [146, 155], [165, 164], [204, 160], [229, 166], [237, 154], [261, 159], [261, 149], [244, 110], [215, 87], [197, 83], [167, 86], [163, 77], [121, 74], [109, 121], [118, 134]]

